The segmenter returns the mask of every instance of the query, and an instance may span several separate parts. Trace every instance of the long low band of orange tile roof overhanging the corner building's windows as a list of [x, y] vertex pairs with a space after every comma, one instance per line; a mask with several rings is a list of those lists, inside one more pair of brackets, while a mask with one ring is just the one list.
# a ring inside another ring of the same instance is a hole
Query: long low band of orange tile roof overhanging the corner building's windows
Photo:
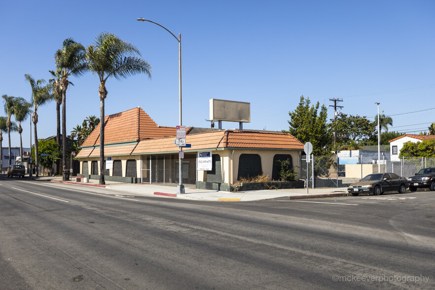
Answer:
[[[119, 145], [105, 147], [104, 153], [110, 155], [136, 155], [163, 152], [177, 152], [175, 137], [142, 140], [136, 145]], [[249, 149], [287, 149], [303, 150], [304, 145], [290, 134], [266, 133], [253, 131], [219, 130], [186, 136], [186, 143], [191, 144], [185, 150], [202, 150], [214, 148], [249, 148]], [[99, 147], [83, 148], [77, 157], [100, 156]]]

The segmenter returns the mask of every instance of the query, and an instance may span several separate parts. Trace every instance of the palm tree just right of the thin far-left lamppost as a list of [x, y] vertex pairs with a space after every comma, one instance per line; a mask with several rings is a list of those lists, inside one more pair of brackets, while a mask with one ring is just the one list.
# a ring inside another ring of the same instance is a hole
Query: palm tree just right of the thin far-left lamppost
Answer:
[[38, 176], [38, 166], [39, 166], [39, 158], [38, 158], [38, 135], [36, 131], [36, 123], [38, 122], [38, 114], [37, 109], [40, 106], [45, 105], [49, 101], [53, 100], [53, 95], [50, 94], [50, 85], [44, 85], [44, 79], [35, 80], [32, 75], [25, 74], [24, 77], [26, 81], [30, 83], [32, 87], [32, 105], [34, 106], [32, 121], [33, 121], [33, 130], [35, 132], [35, 173], [36, 177]]

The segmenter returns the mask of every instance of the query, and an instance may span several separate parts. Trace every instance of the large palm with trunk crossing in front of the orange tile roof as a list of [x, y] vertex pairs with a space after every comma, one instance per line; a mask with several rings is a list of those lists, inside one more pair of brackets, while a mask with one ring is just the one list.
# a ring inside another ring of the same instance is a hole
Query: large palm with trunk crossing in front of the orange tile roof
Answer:
[[137, 73], [151, 75], [151, 66], [140, 57], [136, 46], [123, 41], [107, 32], [95, 37], [94, 44], [88, 46], [86, 57], [89, 70], [100, 78], [100, 184], [104, 181], [104, 100], [107, 97], [106, 81], [113, 76], [116, 79], [127, 78]]

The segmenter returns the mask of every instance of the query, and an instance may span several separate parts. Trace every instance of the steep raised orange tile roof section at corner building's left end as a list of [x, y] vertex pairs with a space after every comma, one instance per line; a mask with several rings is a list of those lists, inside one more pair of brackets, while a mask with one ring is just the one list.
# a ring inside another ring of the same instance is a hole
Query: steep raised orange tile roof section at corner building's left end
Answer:
[[[160, 127], [140, 107], [106, 116], [104, 143], [120, 143], [176, 135], [175, 127]], [[82, 147], [100, 145], [100, 124], [83, 142]]]

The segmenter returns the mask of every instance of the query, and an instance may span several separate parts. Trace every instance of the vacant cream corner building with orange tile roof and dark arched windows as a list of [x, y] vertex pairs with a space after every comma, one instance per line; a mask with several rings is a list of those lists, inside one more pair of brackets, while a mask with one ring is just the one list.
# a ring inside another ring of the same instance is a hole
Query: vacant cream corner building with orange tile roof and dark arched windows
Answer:
[[[112, 168], [106, 169], [105, 179], [178, 183], [179, 147], [175, 139], [175, 127], [157, 125], [140, 107], [106, 116], [104, 152], [112, 157]], [[299, 166], [303, 151], [303, 144], [290, 134], [252, 130], [189, 127], [186, 144], [190, 147], [183, 148], [183, 183], [207, 182], [221, 190], [240, 177], [260, 173], [278, 180], [277, 160], [290, 159], [293, 166]], [[211, 152], [211, 170], [197, 170], [198, 152]], [[77, 158], [80, 175], [99, 179], [100, 125], [83, 142]]]

